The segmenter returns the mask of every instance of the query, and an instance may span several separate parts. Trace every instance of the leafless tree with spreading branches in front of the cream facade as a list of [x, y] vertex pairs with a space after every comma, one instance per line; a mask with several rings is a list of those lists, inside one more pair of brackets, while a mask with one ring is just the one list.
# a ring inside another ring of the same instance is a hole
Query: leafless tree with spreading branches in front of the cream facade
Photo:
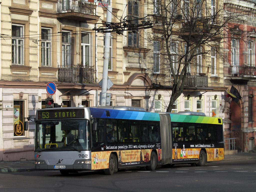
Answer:
[[[242, 35], [239, 28], [242, 19], [239, 18], [240, 13], [226, 12], [221, 0], [150, 1], [154, 7], [152, 17], [158, 24], [154, 25], [151, 33], [148, 32], [148, 37], [151, 41], [163, 41], [161, 55], [169, 68], [165, 71], [172, 76], [170, 84], [173, 88], [167, 106], [167, 112], [171, 112], [175, 100], [183, 92], [189, 70], [201, 67], [197, 62], [198, 56], [209, 59], [216, 53], [222, 60], [225, 31], [237, 30]], [[235, 26], [232, 24], [234, 20]]]

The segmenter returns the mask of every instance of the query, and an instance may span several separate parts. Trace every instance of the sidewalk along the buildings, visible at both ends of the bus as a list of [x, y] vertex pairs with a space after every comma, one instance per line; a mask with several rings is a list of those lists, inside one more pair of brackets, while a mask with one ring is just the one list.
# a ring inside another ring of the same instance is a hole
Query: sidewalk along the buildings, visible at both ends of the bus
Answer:
[[[237, 153], [234, 155], [225, 155], [223, 161], [237, 161], [256, 159], [256, 153]], [[5, 172], [23, 172], [23, 171], [34, 171], [35, 161], [0, 161], [0, 173]]]

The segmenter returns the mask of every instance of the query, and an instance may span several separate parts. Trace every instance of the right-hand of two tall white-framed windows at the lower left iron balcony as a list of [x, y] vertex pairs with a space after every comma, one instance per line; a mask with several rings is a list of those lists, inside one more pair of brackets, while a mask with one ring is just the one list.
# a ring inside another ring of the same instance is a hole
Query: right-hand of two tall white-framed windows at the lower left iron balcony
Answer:
[[[88, 36], [88, 42], [89, 43], [82, 43], [82, 34], [87, 34]], [[86, 49], [88, 48], [88, 53], [86, 52]], [[88, 55], [86, 55], [88, 54]], [[87, 58], [87, 59], [86, 59]], [[87, 63], [86, 63], [87, 60]], [[83, 66], [90, 66], [91, 63], [91, 33], [87, 31], [81, 32], [81, 64]]]

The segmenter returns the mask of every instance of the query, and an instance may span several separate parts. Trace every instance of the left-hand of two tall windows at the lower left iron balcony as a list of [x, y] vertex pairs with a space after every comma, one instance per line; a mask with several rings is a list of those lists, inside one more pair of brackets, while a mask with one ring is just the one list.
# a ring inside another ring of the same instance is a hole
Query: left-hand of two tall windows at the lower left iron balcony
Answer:
[[[62, 67], [70, 67], [71, 66], [71, 52], [72, 52], [72, 45], [71, 45], [71, 31], [62, 30], [63, 33], [68, 34], [68, 42], [62, 41]], [[69, 49], [70, 47], [70, 49]]]

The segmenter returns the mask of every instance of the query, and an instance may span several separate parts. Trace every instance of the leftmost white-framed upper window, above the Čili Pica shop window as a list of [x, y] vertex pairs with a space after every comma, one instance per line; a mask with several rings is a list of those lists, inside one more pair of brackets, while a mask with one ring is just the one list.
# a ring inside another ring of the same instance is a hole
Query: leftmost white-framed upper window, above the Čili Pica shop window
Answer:
[[21, 34], [12, 35], [12, 65], [24, 65], [24, 25], [12, 24], [12, 26], [22, 27]]

